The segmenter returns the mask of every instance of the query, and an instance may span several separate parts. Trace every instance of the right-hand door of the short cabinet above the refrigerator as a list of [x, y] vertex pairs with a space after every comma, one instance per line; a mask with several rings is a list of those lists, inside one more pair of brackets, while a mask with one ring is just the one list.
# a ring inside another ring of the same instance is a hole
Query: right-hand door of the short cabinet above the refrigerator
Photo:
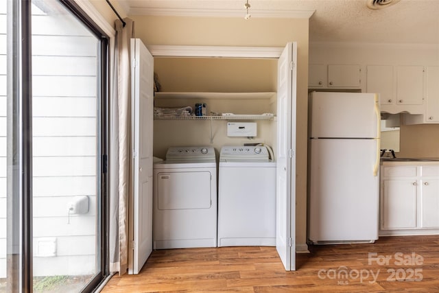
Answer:
[[359, 65], [328, 65], [328, 86], [359, 88], [360, 71]]

